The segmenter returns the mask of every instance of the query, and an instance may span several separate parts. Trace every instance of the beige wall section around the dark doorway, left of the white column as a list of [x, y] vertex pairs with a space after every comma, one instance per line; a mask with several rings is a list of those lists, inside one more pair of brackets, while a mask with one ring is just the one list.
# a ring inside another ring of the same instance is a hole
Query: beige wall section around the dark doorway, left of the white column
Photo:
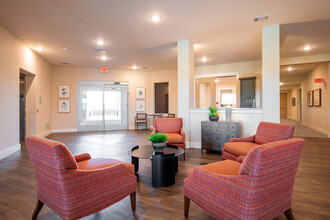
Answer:
[[155, 83], [168, 82], [169, 113], [178, 115], [178, 71], [176, 69], [151, 72], [151, 112], [155, 110]]

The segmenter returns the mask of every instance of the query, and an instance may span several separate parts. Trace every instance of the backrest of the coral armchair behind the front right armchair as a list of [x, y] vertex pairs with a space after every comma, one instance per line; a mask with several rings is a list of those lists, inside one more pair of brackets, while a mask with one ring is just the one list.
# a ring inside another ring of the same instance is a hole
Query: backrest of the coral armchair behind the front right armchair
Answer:
[[265, 144], [274, 141], [287, 140], [293, 137], [294, 125], [270, 122], [260, 122], [255, 137], [255, 143]]

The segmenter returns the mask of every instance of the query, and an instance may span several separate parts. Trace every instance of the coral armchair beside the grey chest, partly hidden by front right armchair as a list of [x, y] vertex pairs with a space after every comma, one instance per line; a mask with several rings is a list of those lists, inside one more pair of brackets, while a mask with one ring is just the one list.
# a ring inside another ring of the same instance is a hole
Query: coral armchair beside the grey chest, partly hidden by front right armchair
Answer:
[[293, 137], [294, 125], [260, 122], [257, 133], [246, 138], [232, 138], [222, 149], [222, 158], [240, 160], [255, 146]]

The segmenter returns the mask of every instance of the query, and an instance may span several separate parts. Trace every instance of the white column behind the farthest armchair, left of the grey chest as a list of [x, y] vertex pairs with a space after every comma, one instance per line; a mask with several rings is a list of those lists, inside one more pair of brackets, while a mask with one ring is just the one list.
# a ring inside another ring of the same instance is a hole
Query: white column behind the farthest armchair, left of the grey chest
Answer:
[[194, 47], [189, 40], [178, 41], [178, 117], [183, 119], [187, 147], [190, 140], [190, 108], [194, 104]]

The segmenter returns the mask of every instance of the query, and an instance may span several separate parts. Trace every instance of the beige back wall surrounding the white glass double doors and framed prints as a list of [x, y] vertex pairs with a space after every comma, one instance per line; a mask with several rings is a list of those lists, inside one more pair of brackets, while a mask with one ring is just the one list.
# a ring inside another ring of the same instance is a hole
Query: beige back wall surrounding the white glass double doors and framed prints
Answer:
[[[98, 68], [52, 68], [52, 119], [53, 131], [75, 131], [77, 129], [77, 81], [116, 81], [128, 82], [129, 91], [129, 127], [134, 128], [134, 116], [136, 115], [135, 91], [136, 87], [146, 88], [146, 112], [153, 112], [151, 102], [151, 73], [150, 71], [109, 70], [108, 73], [100, 73]], [[58, 85], [71, 86], [71, 112], [58, 113]]]

